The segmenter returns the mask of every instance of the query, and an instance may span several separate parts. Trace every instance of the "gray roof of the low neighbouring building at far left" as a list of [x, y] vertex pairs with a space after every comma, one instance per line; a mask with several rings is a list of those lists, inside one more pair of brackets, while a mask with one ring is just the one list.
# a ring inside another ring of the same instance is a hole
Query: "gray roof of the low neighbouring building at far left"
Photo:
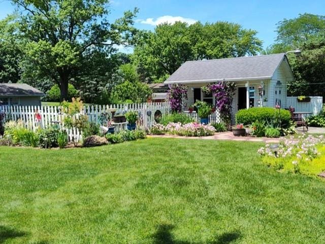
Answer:
[[40, 90], [27, 84], [0, 83], [0, 96], [44, 96]]

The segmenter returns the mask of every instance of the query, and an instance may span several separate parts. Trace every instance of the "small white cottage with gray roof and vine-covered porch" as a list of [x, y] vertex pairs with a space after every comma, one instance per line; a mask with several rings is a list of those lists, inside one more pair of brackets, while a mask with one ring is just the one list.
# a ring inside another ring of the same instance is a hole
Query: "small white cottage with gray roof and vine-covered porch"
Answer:
[[215, 104], [212, 94], [205, 94], [201, 87], [216, 81], [236, 83], [233, 114], [251, 107], [286, 108], [286, 83], [294, 81], [294, 74], [284, 53], [187, 61], [172, 74], [165, 84], [188, 86], [186, 106], [196, 100]]

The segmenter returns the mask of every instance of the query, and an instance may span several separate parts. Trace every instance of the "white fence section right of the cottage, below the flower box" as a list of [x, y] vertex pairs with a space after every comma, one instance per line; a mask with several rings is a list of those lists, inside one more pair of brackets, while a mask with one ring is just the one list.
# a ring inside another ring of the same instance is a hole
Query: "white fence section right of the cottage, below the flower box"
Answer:
[[286, 97], [286, 107], [290, 106], [295, 108], [296, 112], [312, 112], [313, 115], [319, 114], [322, 111], [323, 97], [322, 96], [311, 96], [309, 102], [298, 101], [297, 96]]

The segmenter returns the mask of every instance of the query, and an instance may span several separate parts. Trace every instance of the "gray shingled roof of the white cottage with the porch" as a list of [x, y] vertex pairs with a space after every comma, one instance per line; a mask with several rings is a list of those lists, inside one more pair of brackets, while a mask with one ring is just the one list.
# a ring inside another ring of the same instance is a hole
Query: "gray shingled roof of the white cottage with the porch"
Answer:
[[241, 81], [270, 79], [284, 58], [284, 53], [187, 61], [165, 83]]

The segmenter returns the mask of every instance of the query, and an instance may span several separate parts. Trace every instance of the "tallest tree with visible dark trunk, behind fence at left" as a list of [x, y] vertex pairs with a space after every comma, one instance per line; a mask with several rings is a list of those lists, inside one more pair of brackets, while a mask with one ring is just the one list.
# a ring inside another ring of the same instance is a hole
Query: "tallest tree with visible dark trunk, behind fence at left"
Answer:
[[[84, 58], [96, 52], [106, 56], [114, 45], [127, 44], [137, 9], [114, 23], [107, 20], [108, 0], [12, 0], [24, 12], [20, 31], [29, 40], [23, 62], [25, 77], [49, 78], [68, 97], [68, 84], [82, 73]], [[94, 54], [95, 55], [95, 54]]]

